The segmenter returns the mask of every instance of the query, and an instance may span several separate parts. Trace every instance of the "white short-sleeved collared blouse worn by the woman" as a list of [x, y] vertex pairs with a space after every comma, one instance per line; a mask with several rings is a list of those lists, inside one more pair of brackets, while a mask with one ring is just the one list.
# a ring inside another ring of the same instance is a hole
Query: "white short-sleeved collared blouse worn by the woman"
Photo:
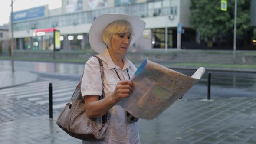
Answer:
[[[130, 77], [134, 75], [137, 69], [128, 59], [126, 59], [125, 56], [123, 57], [123, 69], [115, 65], [109, 55], [108, 49], [105, 49], [105, 52], [98, 54], [97, 56], [102, 59], [104, 68], [103, 87], [105, 97], [108, 97], [112, 95], [112, 92], [114, 92], [117, 83], [120, 82], [120, 79], [129, 80], [126, 69], [128, 69]], [[118, 78], [114, 68], [118, 72], [120, 79]], [[81, 93], [82, 96], [102, 95], [102, 80], [99, 62], [95, 57], [89, 59], [85, 64]], [[98, 143], [82, 141], [82, 144], [140, 144], [139, 122], [127, 123], [125, 114], [126, 112], [124, 108], [119, 105], [114, 105], [109, 110], [108, 117], [110, 118], [110, 123], [106, 131], [105, 139]]]

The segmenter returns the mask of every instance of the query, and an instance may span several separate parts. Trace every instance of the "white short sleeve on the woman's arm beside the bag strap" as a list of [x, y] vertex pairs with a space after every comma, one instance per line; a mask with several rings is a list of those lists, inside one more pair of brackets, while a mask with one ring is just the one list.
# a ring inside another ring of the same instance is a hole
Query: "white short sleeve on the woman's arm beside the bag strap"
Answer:
[[85, 95], [102, 95], [102, 78], [98, 59], [93, 57], [85, 64], [81, 85], [82, 97]]

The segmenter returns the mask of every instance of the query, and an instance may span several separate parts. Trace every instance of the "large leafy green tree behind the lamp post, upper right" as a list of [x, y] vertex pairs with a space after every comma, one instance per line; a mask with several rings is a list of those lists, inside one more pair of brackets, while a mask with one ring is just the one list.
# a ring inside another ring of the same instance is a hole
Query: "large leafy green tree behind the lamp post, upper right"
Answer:
[[[227, 0], [227, 11], [220, 10], [220, 0], [191, 0], [191, 26], [200, 31], [201, 38], [215, 41], [220, 34], [233, 34], [234, 0]], [[237, 36], [248, 36], [253, 31], [250, 26], [251, 0], [237, 0]], [[256, 32], [256, 29], [255, 29]]]

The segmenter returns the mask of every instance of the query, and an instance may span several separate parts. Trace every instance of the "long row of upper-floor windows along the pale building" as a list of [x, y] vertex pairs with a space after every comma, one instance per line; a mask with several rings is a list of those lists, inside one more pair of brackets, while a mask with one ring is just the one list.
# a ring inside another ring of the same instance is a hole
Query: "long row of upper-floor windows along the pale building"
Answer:
[[130, 14], [137, 17], [168, 16], [177, 15], [177, 6], [171, 5], [171, 0], [152, 1], [148, 3], [137, 3], [104, 9], [79, 11], [65, 15], [50, 16], [39, 20], [14, 23], [15, 31], [31, 29], [45, 29], [58, 26], [75, 26], [79, 24], [92, 23], [95, 17], [105, 13]]

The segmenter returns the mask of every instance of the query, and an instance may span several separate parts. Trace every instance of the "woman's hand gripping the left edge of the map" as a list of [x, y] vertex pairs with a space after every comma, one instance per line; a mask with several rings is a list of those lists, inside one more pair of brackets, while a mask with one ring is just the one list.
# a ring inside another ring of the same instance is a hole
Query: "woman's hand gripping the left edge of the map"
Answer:
[[132, 87], [134, 86], [135, 84], [128, 80], [118, 82], [114, 92], [111, 95], [112, 98], [114, 98], [115, 103], [117, 103], [118, 101], [121, 101], [123, 98], [129, 97], [129, 95], [132, 92]]

